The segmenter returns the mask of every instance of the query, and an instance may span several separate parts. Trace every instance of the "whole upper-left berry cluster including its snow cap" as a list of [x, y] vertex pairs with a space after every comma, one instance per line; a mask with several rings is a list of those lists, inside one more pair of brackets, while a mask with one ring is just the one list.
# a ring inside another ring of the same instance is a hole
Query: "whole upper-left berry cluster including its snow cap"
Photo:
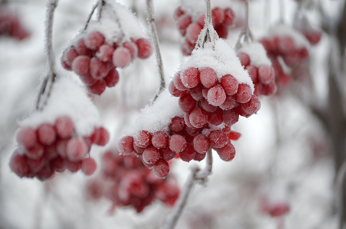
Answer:
[[107, 1], [100, 19], [90, 22], [70, 41], [61, 57], [62, 65], [79, 75], [90, 93], [99, 95], [118, 83], [117, 67], [124, 68], [135, 58], [146, 59], [152, 54], [152, 45], [141, 31], [131, 12]]

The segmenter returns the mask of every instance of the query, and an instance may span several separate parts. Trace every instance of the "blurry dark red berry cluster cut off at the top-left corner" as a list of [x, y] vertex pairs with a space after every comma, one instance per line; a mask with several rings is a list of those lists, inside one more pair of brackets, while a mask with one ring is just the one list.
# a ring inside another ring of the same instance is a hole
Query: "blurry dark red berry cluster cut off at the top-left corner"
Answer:
[[30, 36], [20, 23], [19, 18], [8, 9], [0, 8], [0, 35], [9, 35], [19, 40], [25, 39]]

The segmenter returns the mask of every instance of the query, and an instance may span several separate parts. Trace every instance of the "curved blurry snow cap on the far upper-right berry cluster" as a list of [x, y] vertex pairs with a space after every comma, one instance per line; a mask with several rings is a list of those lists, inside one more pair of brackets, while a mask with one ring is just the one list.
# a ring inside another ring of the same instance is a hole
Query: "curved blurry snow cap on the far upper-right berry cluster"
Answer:
[[287, 25], [277, 25], [270, 29], [269, 34], [279, 37], [290, 36], [293, 38], [294, 44], [297, 48], [310, 49], [311, 45], [306, 37], [297, 29]]

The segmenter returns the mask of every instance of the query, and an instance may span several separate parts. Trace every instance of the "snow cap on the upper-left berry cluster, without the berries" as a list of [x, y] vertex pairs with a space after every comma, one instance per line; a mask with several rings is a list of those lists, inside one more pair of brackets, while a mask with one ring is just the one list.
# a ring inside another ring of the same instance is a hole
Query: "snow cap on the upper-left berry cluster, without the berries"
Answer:
[[[98, 10], [98, 9], [96, 9]], [[106, 0], [102, 6], [100, 20], [90, 21], [85, 30], [71, 40], [71, 45], [76, 45], [78, 40], [93, 31], [103, 34], [105, 42], [121, 44], [130, 38], [139, 39], [145, 37], [144, 30], [138, 19], [126, 6], [113, 0]]]

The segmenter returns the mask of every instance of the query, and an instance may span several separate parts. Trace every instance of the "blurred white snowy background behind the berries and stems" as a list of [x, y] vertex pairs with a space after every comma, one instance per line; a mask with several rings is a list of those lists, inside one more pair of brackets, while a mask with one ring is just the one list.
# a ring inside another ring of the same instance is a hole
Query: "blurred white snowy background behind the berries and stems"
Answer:
[[[136, 10], [145, 25], [144, 1], [119, 1]], [[179, 66], [186, 62], [179, 49], [180, 35], [175, 29], [173, 11], [181, 1], [154, 1], [155, 17], [160, 36], [166, 83]], [[198, 1], [203, 4], [203, 0]], [[277, 1], [271, 6], [270, 21], [278, 19]], [[337, 1], [330, 1], [330, 9]], [[57, 67], [62, 75], [73, 76], [60, 66], [60, 56], [71, 38], [84, 26], [95, 1], [60, 0], [55, 12], [53, 44]], [[292, 22], [294, 1], [285, 1], [286, 22]], [[9, 9], [20, 15], [31, 37], [23, 41], [0, 36], [0, 228], [160, 228], [170, 209], [155, 201], [137, 214], [130, 208], [118, 208], [114, 215], [107, 210], [110, 201], [86, 198], [86, 182], [97, 176], [85, 177], [81, 172], [56, 174], [51, 181], [19, 178], [8, 166], [15, 146], [18, 121], [33, 107], [37, 87], [45, 71], [46, 1], [13, 1]], [[242, 3], [230, 1], [238, 17], [243, 17]], [[335, 7], [337, 8], [337, 7]], [[250, 28], [256, 38], [267, 33], [268, 18], [264, 0], [250, 5]], [[239, 22], [241, 23], [241, 22]], [[124, 28], [126, 29], [126, 28]], [[239, 29], [232, 30], [229, 42], [236, 43]], [[326, 89], [326, 37], [311, 50], [311, 75], [323, 100]], [[120, 71], [120, 82], [100, 97], [93, 97], [102, 123], [111, 134], [106, 147], [93, 146], [92, 157], [100, 161], [106, 148], [133, 125], [140, 109], [149, 103], [159, 79], [154, 55], [147, 60], [136, 59]], [[318, 83], [316, 83], [318, 82]], [[214, 152], [212, 175], [206, 187], [196, 186], [176, 228], [336, 228], [334, 203], [334, 167], [328, 152], [323, 129], [309, 110], [292, 93], [280, 97], [260, 98], [262, 107], [250, 118], [241, 117], [232, 128], [242, 133], [234, 142], [236, 157], [221, 161]], [[189, 166], [182, 162], [171, 167], [182, 187]], [[204, 166], [204, 161], [199, 163]], [[290, 212], [282, 219], [260, 211], [260, 198], [286, 201]]]

